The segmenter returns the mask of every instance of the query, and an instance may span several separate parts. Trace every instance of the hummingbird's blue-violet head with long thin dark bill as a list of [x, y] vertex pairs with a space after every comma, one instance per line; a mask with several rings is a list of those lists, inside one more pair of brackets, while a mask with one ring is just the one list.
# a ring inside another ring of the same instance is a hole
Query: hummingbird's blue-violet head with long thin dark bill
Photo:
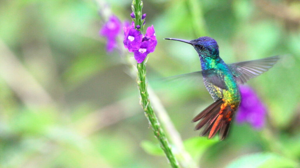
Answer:
[[176, 40], [193, 45], [199, 56], [209, 56], [212, 58], [216, 58], [219, 56], [219, 46], [216, 40], [211, 37], [204, 36], [194, 40], [167, 38], [167, 40]]

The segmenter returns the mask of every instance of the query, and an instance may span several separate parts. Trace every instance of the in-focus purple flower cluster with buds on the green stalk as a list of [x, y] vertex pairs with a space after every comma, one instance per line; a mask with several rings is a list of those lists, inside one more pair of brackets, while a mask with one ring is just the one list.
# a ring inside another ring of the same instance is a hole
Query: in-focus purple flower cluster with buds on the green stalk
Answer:
[[[135, 17], [133, 13], [131, 13], [131, 17]], [[146, 14], [143, 14], [142, 19], [145, 18]], [[155, 50], [157, 40], [153, 25], [147, 28], [145, 35], [141, 34], [138, 29], [140, 29], [140, 25], [135, 26], [134, 22], [132, 22], [131, 26], [124, 27], [123, 43], [129, 52], [134, 53], [137, 63], [142, 63], [147, 55]]]

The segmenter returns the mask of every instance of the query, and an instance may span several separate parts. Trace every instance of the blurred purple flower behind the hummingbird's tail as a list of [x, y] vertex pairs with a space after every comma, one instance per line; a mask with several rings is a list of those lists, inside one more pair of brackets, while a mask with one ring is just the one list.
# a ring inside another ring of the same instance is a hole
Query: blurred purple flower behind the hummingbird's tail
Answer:
[[239, 85], [239, 89], [241, 91], [241, 104], [236, 114], [237, 123], [248, 122], [255, 129], [262, 128], [267, 113], [264, 104], [249, 86]]

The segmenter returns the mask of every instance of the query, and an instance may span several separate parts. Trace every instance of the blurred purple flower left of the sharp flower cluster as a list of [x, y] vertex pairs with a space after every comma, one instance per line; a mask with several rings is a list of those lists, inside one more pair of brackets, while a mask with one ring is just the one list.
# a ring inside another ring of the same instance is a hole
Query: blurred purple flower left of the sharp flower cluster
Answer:
[[121, 31], [121, 22], [120, 20], [112, 15], [110, 19], [104, 24], [101, 28], [99, 34], [107, 38], [106, 49], [108, 52], [113, 51], [116, 48], [116, 36]]

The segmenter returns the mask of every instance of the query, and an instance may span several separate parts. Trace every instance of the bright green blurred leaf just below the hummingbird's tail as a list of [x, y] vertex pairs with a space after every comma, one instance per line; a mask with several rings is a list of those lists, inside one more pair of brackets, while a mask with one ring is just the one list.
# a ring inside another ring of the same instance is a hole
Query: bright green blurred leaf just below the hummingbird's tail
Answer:
[[184, 146], [187, 152], [195, 159], [199, 159], [200, 156], [210, 146], [219, 142], [217, 138], [207, 139], [207, 137], [194, 137], [184, 141]]

